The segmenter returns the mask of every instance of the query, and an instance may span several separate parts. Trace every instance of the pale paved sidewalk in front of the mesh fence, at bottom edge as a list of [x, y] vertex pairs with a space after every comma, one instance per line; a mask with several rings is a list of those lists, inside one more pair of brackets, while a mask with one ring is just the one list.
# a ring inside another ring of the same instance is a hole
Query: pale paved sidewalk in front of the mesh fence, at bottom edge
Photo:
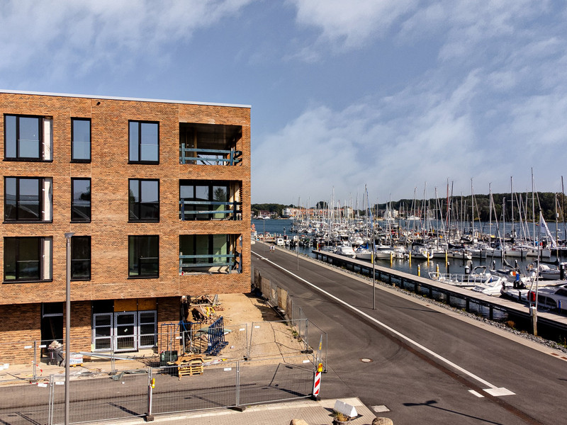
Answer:
[[[301, 399], [286, 403], [260, 404], [248, 407], [244, 412], [231, 409], [211, 410], [208, 412], [193, 412], [184, 414], [168, 414], [155, 416], [155, 424], [177, 425], [289, 425], [291, 419], [303, 419], [308, 425], [332, 424], [332, 409], [335, 399], [315, 402], [310, 399]], [[357, 409], [356, 419], [349, 421], [349, 425], [371, 425], [376, 415], [364, 406], [358, 398], [343, 398], [342, 402], [351, 404]], [[151, 423], [151, 422], [150, 422]], [[100, 425], [108, 422], [97, 423]], [[144, 419], [121, 420], [120, 425], [146, 424]]]

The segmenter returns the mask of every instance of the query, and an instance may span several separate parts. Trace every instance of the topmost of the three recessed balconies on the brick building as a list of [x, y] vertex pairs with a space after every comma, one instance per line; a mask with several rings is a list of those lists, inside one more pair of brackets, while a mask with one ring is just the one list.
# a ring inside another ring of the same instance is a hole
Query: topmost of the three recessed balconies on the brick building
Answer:
[[242, 162], [242, 126], [179, 124], [179, 164], [228, 165]]

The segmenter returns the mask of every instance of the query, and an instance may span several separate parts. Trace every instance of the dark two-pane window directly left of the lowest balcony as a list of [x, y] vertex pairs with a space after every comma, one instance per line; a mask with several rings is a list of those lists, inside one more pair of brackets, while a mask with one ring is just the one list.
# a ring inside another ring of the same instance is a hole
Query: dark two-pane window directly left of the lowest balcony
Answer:
[[159, 236], [128, 237], [128, 277], [159, 276]]

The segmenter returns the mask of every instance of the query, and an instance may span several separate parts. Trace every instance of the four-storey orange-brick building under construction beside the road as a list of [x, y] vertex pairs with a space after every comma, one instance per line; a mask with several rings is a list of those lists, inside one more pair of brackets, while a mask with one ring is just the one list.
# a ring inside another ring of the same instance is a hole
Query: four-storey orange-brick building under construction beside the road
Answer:
[[[0, 91], [0, 360], [136, 351], [183, 295], [250, 288], [250, 108]], [[16, 361], [17, 360], [17, 361]]]

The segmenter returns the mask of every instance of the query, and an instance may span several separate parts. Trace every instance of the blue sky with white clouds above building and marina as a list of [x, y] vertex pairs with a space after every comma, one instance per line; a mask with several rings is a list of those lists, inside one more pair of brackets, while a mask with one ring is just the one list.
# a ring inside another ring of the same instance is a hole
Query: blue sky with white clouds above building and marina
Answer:
[[561, 192], [566, 38], [563, 0], [0, 0], [0, 89], [249, 105], [252, 203]]

